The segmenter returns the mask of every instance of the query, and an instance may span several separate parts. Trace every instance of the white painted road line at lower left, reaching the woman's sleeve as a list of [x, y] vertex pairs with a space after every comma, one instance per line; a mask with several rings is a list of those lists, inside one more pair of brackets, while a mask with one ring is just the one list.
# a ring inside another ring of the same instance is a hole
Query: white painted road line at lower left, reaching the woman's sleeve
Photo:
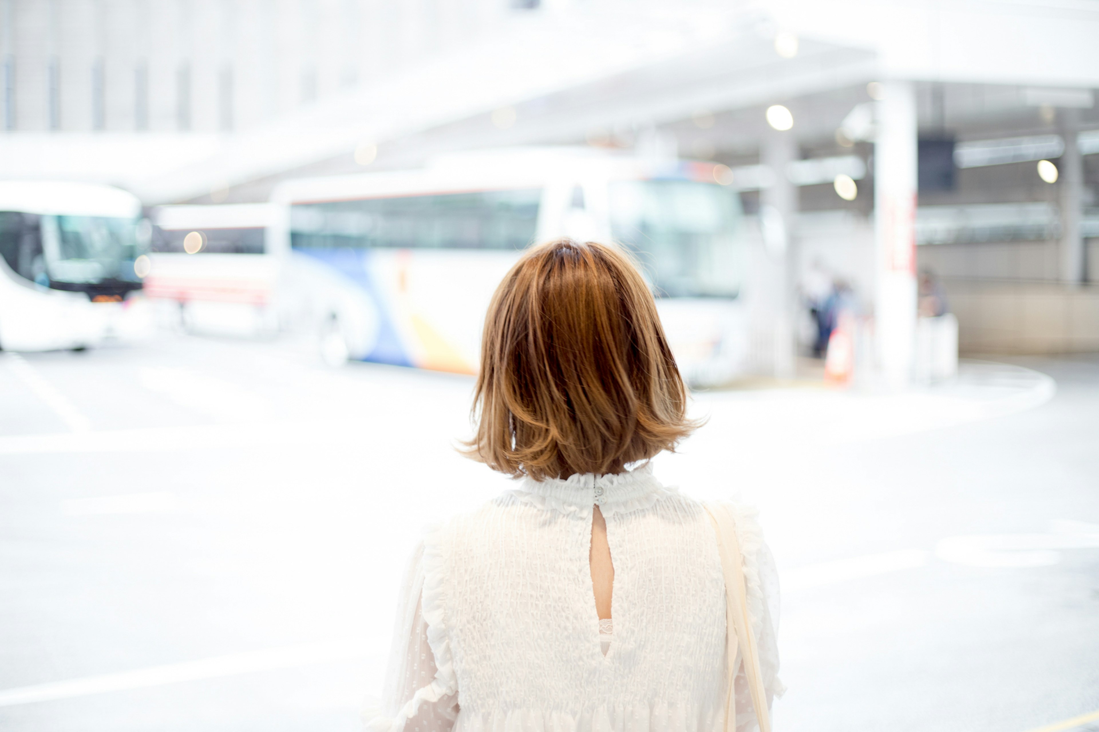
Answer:
[[67, 681], [35, 684], [0, 690], [0, 707], [29, 705], [37, 701], [70, 699], [108, 691], [125, 691], [151, 686], [165, 686], [182, 681], [198, 681], [223, 676], [237, 676], [255, 672], [293, 668], [332, 661], [347, 661], [366, 656], [365, 644], [359, 641], [330, 641], [306, 643], [280, 648], [247, 651], [198, 661], [186, 661], [164, 666], [149, 666], [116, 674], [85, 676]]

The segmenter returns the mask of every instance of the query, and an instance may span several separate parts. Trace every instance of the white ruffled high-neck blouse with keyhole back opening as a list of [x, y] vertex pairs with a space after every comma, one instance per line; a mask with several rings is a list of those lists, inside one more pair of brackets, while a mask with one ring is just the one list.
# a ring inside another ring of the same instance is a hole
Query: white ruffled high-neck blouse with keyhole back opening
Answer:
[[[592, 506], [614, 565], [600, 622]], [[767, 701], [777, 678], [778, 583], [754, 511], [736, 506]], [[646, 467], [524, 479], [417, 550], [380, 708], [368, 732], [720, 732], [725, 592], [698, 501]], [[736, 729], [756, 725], [743, 666]]]

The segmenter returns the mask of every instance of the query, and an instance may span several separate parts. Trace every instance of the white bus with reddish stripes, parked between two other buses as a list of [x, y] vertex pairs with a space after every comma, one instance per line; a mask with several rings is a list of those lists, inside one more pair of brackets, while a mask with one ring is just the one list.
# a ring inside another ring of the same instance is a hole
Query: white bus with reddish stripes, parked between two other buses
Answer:
[[267, 203], [154, 209], [145, 295], [162, 320], [175, 318], [187, 330], [206, 333], [277, 330], [279, 260], [266, 245], [270, 212]]

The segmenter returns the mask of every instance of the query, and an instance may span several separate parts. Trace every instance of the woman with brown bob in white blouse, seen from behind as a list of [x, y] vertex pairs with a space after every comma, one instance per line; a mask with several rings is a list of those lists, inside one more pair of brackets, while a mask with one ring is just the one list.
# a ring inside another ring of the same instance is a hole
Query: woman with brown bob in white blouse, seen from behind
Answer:
[[[618, 248], [526, 253], [489, 306], [468, 454], [513, 490], [431, 532], [370, 732], [718, 732], [725, 589], [702, 504], [647, 461], [697, 426], [656, 306]], [[728, 480], [725, 476], [717, 479]], [[737, 509], [767, 703], [777, 584]], [[737, 730], [755, 725], [743, 666]]]

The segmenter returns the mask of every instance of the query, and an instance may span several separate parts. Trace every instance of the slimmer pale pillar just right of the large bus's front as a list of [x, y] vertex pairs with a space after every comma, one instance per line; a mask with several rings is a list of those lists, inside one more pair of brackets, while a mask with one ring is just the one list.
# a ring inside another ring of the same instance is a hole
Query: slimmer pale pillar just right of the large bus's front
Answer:
[[796, 373], [797, 344], [793, 293], [793, 252], [791, 231], [798, 211], [798, 189], [787, 177], [790, 163], [798, 156], [798, 142], [792, 132], [768, 130], [761, 151], [762, 163], [771, 174], [770, 185], [759, 191], [759, 221], [771, 273], [774, 309], [773, 365], [775, 378], [791, 379]]

